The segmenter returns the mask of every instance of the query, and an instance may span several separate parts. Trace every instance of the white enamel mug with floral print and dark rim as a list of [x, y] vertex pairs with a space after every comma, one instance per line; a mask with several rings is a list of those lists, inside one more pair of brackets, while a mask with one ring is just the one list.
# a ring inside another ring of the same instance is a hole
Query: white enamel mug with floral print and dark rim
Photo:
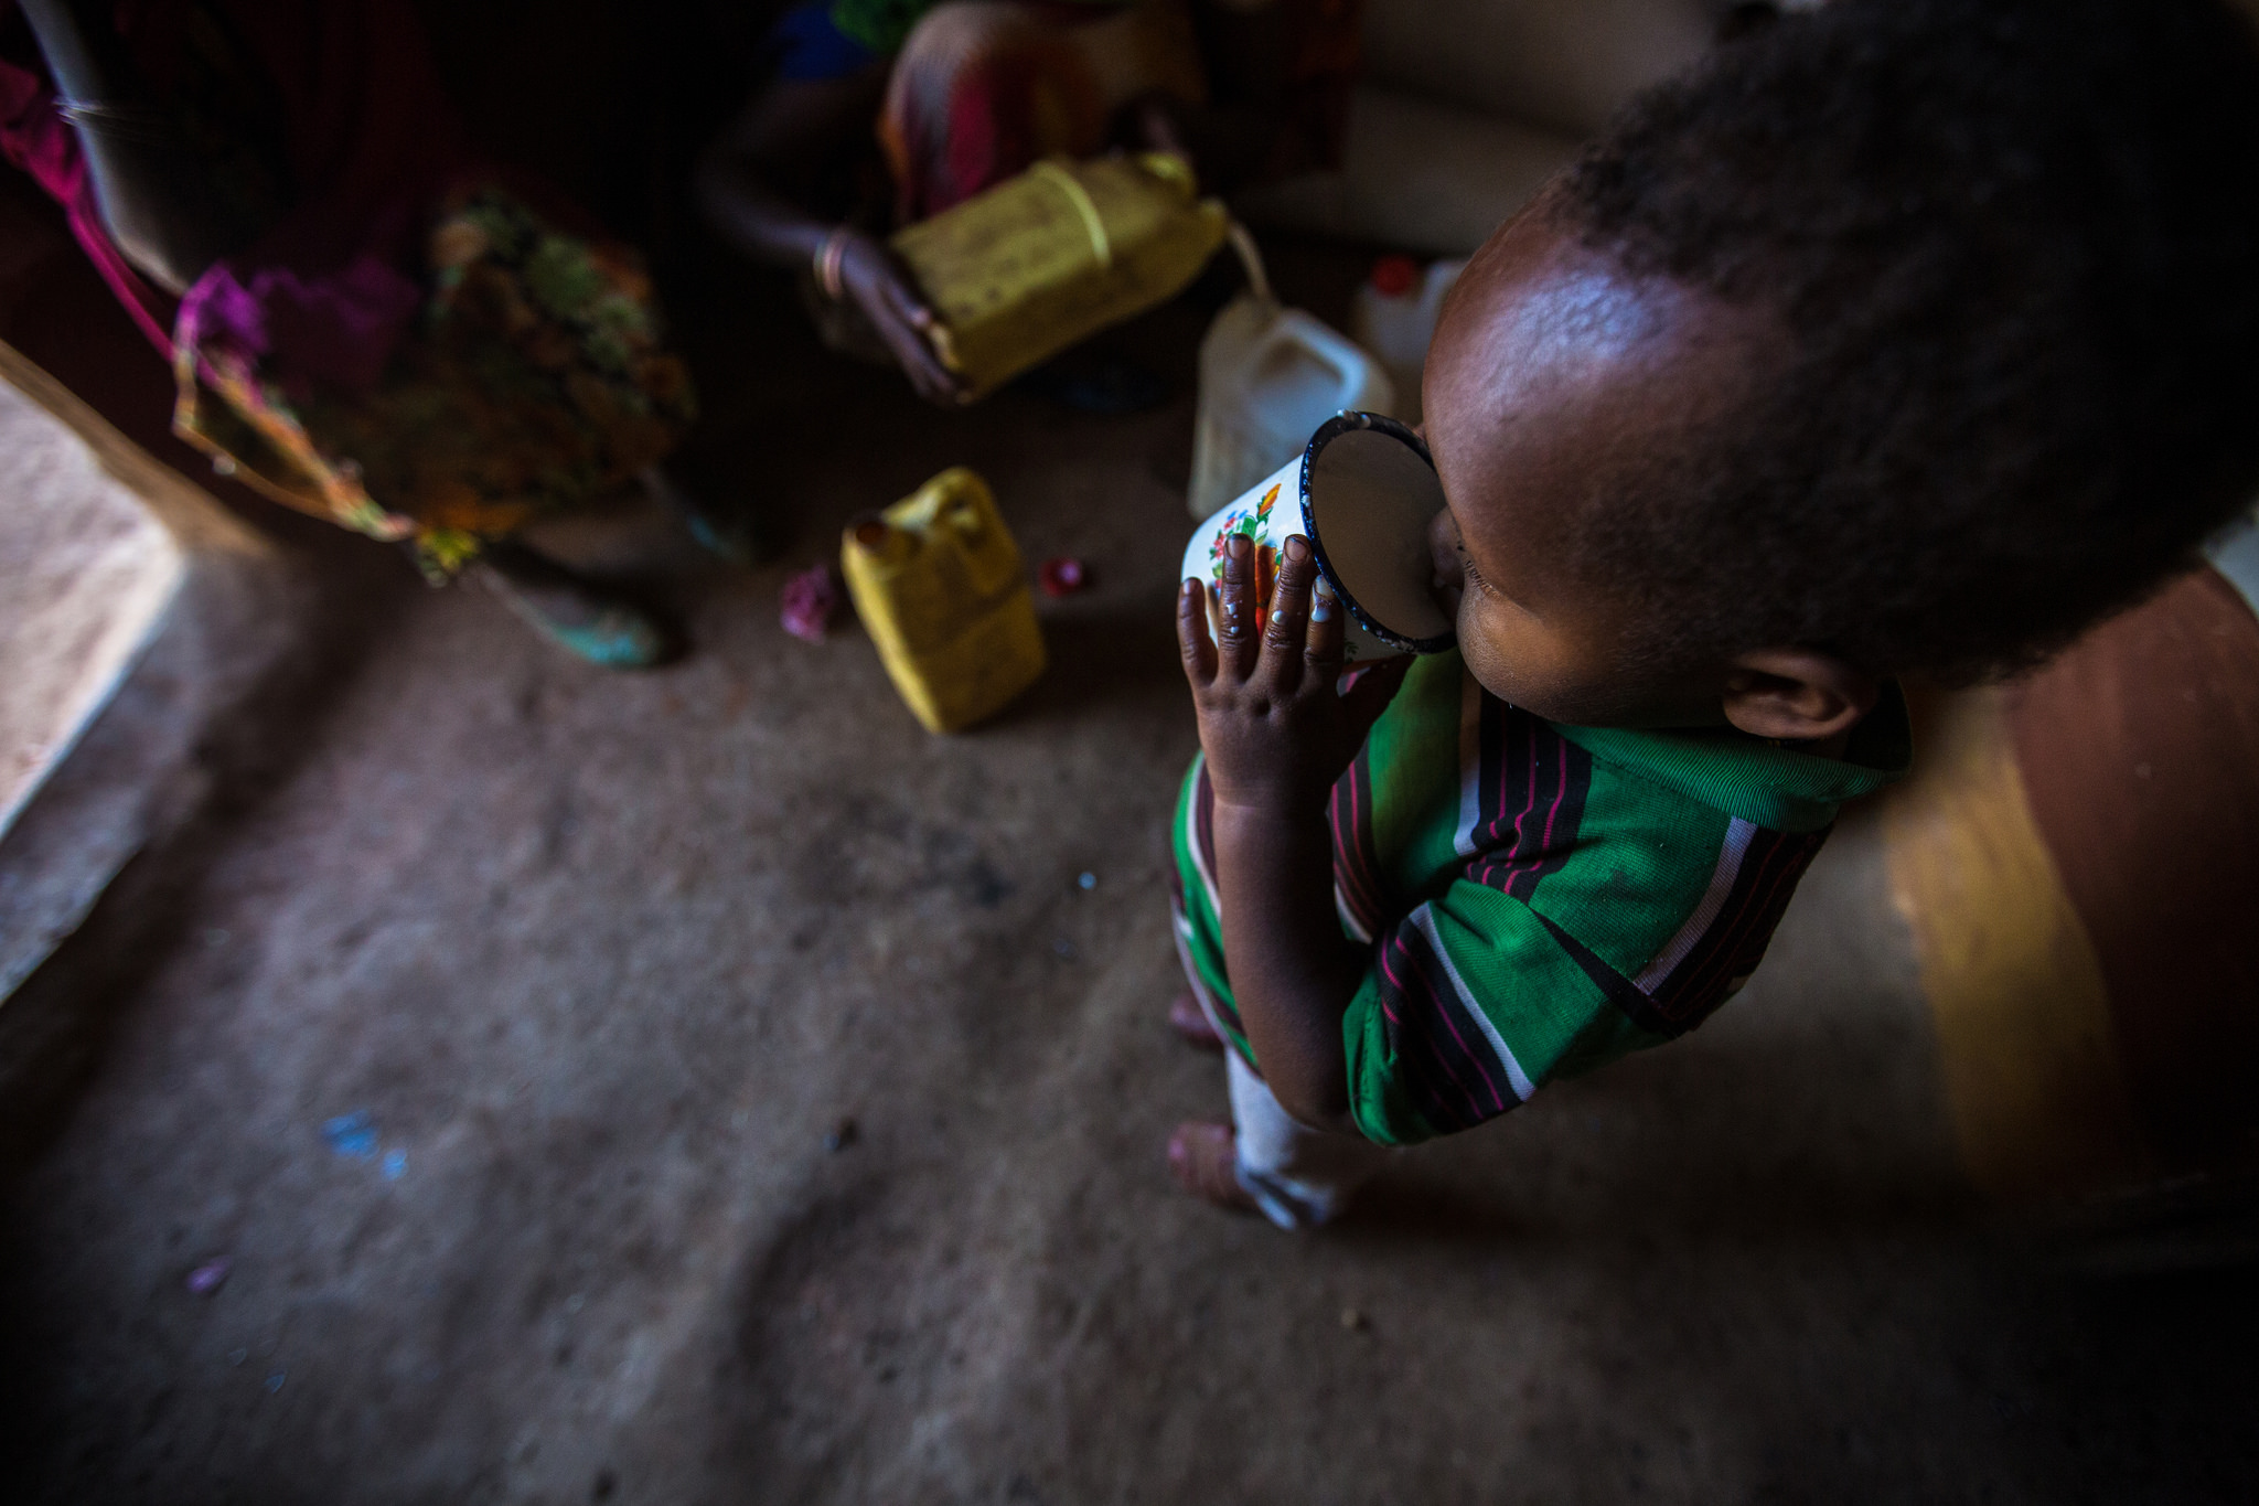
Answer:
[[1256, 546], [1258, 616], [1270, 614], [1279, 551], [1303, 535], [1317, 569], [1349, 610], [1342, 655], [1351, 664], [1407, 653], [1441, 653], [1457, 641], [1434, 598], [1428, 528], [1444, 510], [1444, 483], [1428, 445], [1394, 418], [1335, 413], [1292, 461], [1247, 488], [1193, 531], [1184, 580], [1209, 583], [1209, 625], [1218, 625], [1224, 540]]

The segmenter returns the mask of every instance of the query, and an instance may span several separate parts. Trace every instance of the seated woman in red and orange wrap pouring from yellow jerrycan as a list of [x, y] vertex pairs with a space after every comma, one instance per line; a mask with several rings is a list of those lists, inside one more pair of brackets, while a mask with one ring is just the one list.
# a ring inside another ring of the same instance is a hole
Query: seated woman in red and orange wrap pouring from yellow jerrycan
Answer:
[[953, 404], [886, 226], [1109, 147], [1179, 151], [1209, 192], [1333, 165], [1355, 65], [1358, 0], [804, 0], [698, 190], [739, 251], [806, 273], [829, 343]]

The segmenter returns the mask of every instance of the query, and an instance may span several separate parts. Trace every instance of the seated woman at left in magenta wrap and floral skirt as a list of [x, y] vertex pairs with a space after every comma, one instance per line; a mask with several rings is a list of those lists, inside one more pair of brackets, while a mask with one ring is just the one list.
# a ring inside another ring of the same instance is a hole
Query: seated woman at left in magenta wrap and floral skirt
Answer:
[[511, 535], [635, 479], [682, 501], [689, 375], [635, 255], [470, 151], [409, 0], [20, 11], [0, 151], [172, 361], [181, 438], [434, 580], [474, 564], [590, 662], [655, 662], [646, 616]]

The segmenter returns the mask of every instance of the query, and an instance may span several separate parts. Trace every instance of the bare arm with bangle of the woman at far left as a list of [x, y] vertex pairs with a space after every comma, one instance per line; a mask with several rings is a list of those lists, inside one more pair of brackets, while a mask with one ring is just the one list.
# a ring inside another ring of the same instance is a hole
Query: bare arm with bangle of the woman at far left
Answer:
[[104, 228], [136, 271], [185, 294], [255, 228], [233, 224], [203, 158], [149, 104], [102, 0], [23, 0], [23, 16], [86, 154]]

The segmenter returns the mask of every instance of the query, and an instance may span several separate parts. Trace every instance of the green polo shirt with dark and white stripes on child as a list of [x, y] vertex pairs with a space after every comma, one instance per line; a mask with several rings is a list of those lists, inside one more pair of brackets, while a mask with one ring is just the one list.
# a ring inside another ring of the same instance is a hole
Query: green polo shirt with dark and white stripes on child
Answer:
[[[1895, 686], [1818, 759], [1721, 732], [1559, 727], [1421, 659], [1333, 788], [1333, 892], [1373, 962], [1342, 1016], [1358, 1129], [1471, 1129], [1730, 998], [1837, 806], [1907, 770]], [[1177, 935], [1204, 1005], [1254, 1061], [1215, 910], [1200, 759], [1175, 824]]]

